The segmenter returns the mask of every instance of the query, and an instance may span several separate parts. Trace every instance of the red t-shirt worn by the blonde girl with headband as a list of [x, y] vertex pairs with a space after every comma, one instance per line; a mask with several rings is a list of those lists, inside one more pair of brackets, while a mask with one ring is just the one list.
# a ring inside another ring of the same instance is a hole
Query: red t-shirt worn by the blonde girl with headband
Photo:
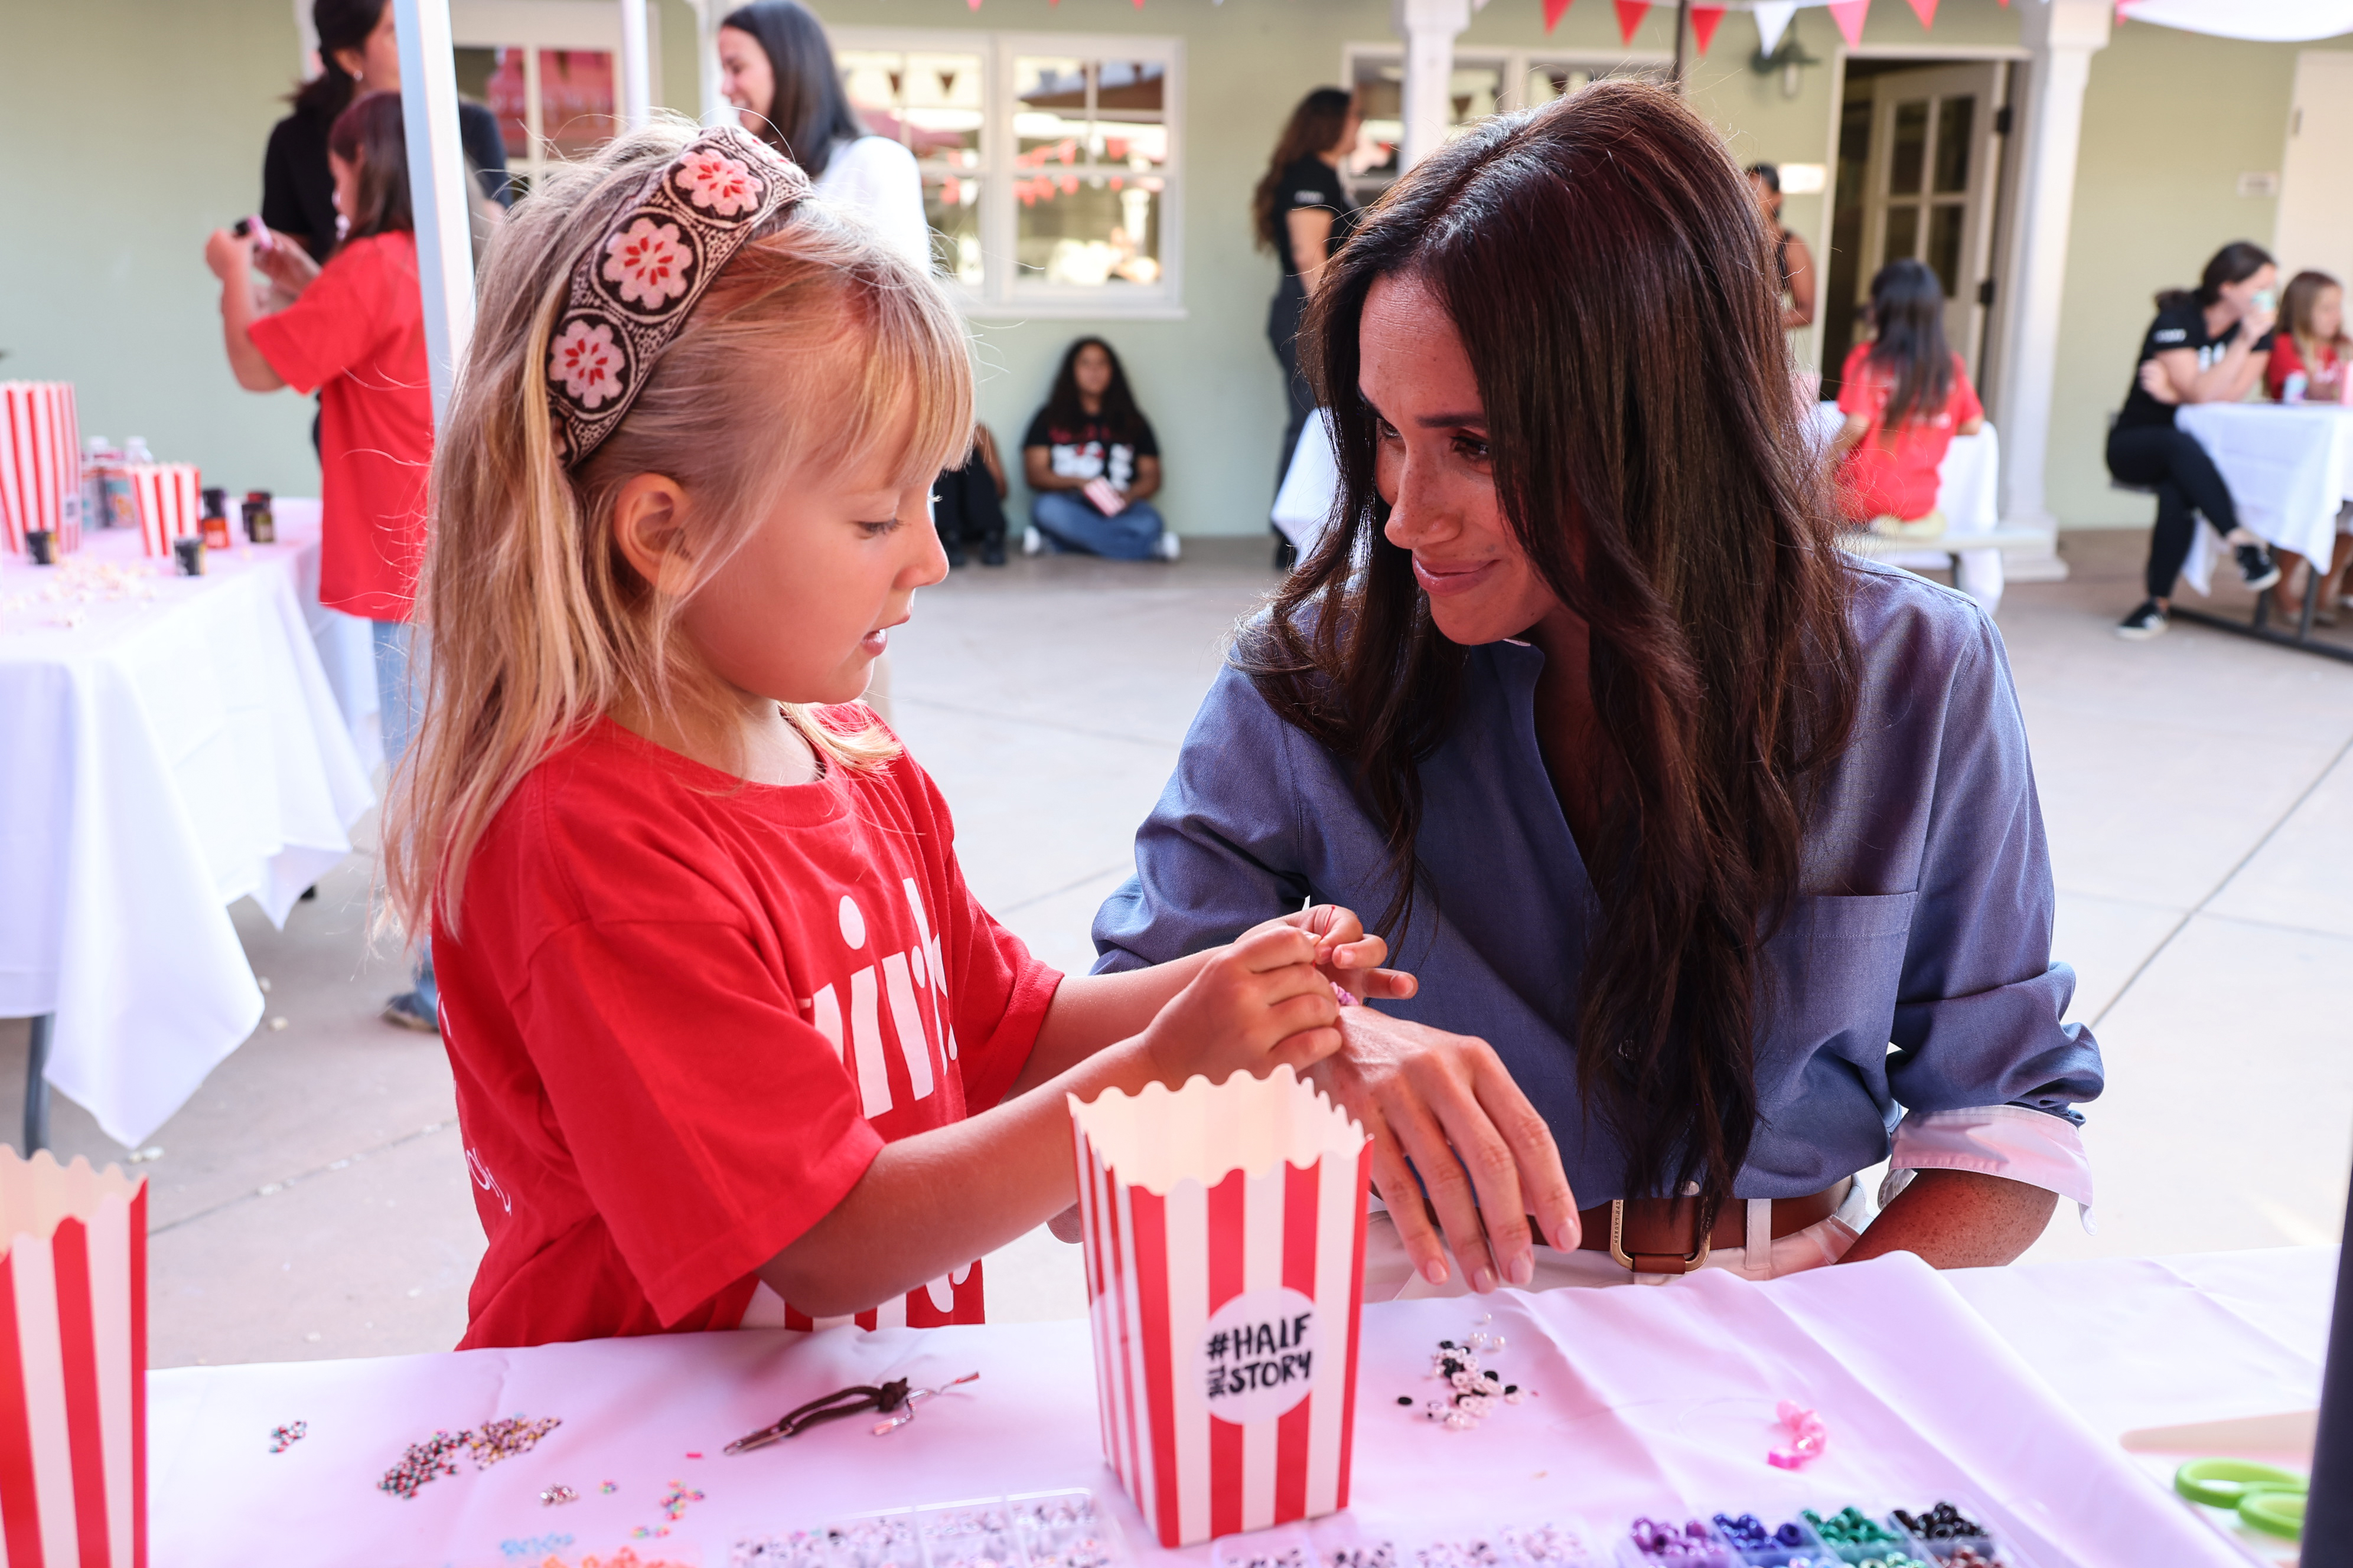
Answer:
[[[885, 1143], [1002, 1100], [1061, 983], [911, 757], [748, 785], [612, 719], [492, 818], [433, 969], [489, 1237], [461, 1349], [812, 1326], [755, 1269]], [[856, 1321], [981, 1312], [974, 1262]]]

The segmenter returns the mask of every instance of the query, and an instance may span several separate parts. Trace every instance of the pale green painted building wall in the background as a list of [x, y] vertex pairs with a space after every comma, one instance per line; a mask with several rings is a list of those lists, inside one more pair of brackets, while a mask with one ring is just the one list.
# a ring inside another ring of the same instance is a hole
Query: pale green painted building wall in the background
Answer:
[[[661, 96], [694, 106], [694, 26], [661, 5]], [[1275, 129], [1308, 87], [1334, 82], [1346, 42], [1391, 42], [1386, 0], [821, 0], [838, 26], [1151, 33], [1186, 40], [1186, 320], [976, 322], [981, 414], [1016, 440], [1064, 343], [1104, 331], [1129, 362], [1167, 449], [1172, 522], [1191, 534], [1264, 529], [1280, 430], [1280, 386], [1264, 339], [1275, 263], [1252, 249], [1249, 186]], [[1635, 35], [1666, 49], [1666, 9]], [[2009, 45], [2019, 12], [1944, 0], [1934, 33], [1880, 0], [1866, 45]], [[1838, 35], [1798, 14], [1805, 47]], [[1464, 47], [1614, 52], [1617, 16], [1577, 0], [1546, 40], [1539, 0], [1494, 0]], [[2329, 47], [2346, 47], [2337, 40]], [[1831, 68], [1798, 96], [1746, 68], [1748, 16], [1727, 16], [1692, 94], [1746, 162], [1831, 155]], [[231, 484], [308, 491], [311, 404], [240, 393], [219, 348], [205, 233], [259, 200], [261, 146], [296, 68], [287, 0], [14, 0], [0, 47], [0, 202], [19, 214], [0, 240], [0, 376], [71, 378], [82, 428], [144, 435]], [[2280, 167], [2294, 45], [2242, 45], [2125, 24], [2094, 56], [2064, 299], [2052, 505], [2068, 524], [2139, 524], [2148, 503], [2108, 491], [2106, 411], [2122, 397], [2148, 296], [2195, 277], [2233, 237], [2271, 240], [2273, 202], [2235, 195], [2242, 172]], [[108, 92], [94, 108], [89, 71]], [[202, 92], [193, 92], [200, 82]], [[1821, 237], [1819, 197], [1788, 221]], [[1809, 339], [1800, 336], [1805, 350]], [[1016, 496], [1016, 505], [1026, 498]]]

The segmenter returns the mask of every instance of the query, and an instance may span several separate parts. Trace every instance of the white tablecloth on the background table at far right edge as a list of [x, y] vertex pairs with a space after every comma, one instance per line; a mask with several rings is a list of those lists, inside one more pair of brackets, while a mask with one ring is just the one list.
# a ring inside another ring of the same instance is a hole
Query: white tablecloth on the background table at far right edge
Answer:
[[[2337, 510], [2353, 498], [2353, 409], [2337, 404], [2193, 402], [2174, 423], [2214, 458], [2238, 520], [2282, 550], [2327, 564], [2337, 548]], [[2221, 541], [2191, 534], [2181, 567], [2198, 592], [2212, 592]]]

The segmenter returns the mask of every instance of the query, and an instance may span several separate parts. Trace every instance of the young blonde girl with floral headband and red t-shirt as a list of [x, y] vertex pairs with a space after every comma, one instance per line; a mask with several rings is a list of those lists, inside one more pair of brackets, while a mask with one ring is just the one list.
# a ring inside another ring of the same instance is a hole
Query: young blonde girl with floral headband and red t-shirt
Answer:
[[856, 703], [946, 576], [953, 308], [734, 129], [515, 209], [433, 473], [433, 668], [386, 839], [489, 1237], [464, 1345], [981, 1319], [1075, 1199], [1064, 1093], [1306, 1065], [1337, 910], [1056, 976]]

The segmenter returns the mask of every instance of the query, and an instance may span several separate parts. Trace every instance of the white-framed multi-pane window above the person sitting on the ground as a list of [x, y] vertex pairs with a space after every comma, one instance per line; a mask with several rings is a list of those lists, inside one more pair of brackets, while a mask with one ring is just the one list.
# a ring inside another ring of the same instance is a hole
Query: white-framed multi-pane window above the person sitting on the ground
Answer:
[[1184, 40], [833, 28], [972, 315], [1184, 315]]

